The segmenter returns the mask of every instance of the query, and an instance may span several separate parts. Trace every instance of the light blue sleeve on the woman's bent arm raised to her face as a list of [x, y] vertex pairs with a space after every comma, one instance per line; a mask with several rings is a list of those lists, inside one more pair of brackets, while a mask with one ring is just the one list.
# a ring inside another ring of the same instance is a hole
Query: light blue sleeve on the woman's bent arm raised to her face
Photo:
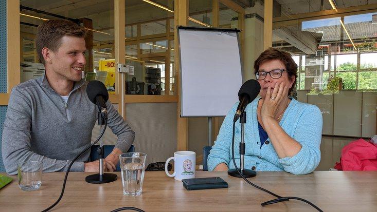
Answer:
[[303, 109], [293, 139], [301, 144], [301, 150], [293, 157], [279, 159], [284, 170], [295, 175], [308, 174], [321, 159], [322, 114], [315, 105]]

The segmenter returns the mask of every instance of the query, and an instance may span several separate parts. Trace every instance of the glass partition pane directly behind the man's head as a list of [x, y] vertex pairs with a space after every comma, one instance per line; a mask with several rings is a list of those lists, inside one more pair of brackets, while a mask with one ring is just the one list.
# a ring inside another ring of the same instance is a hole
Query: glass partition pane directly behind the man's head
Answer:
[[87, 81], [99, 80], [110, 94], [115, 93], [114, 62], [114, 1], [102, 0], [82, 4], [65, 1], [20, 1], [21, 82], [44, 73], [35, 50], [37, 27], [44, 21], [66, 19], [87, 30], [86, 65]]

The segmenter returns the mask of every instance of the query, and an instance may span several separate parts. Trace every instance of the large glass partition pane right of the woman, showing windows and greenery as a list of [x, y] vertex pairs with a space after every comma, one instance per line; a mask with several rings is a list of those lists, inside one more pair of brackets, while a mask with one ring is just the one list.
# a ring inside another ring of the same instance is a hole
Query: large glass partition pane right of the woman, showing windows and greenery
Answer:
[[298, 66], [294, 95], [315, 104], [322, 134], [370, 138], [376, 133], [377, 6], [360, 1], [278, 1], [273, 47]]

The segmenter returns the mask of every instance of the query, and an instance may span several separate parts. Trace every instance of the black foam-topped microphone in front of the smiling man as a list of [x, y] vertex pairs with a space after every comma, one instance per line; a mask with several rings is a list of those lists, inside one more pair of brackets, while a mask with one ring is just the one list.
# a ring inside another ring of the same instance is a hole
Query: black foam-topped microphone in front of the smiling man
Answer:
[[102, 118], [107, 119], [106, 102], [109, 100], [109, 93], [107, 92], [105, 85], [100, 81], [93, 80], [88, 83], [86, 94], [88, 95], [89, 100], [98, 106]]

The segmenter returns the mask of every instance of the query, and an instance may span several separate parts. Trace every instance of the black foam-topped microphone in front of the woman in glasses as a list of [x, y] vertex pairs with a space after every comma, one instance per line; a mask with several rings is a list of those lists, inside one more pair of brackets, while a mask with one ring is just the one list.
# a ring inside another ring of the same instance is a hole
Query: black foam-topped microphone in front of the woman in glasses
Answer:
[[247, 104], [253, 102], [259, 92], [260, 84], [256, 80], [248, 80], [241, 86], [240, 90], [238, 91], [238, 99], [240, 100], [240, 104], [237, 106], [237, 111], [233, 122], [236, 122], [240, 118], [240, 115], [245, 110]]

